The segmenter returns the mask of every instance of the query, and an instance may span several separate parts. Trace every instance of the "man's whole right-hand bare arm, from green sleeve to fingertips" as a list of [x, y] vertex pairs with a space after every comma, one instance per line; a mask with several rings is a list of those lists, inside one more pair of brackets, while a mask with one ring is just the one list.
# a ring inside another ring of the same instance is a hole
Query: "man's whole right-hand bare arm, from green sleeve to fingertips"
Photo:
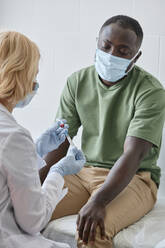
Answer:
[[105, 182], [94, 196], [82, 207], [78, 214], [77, 228], [80, 239], [85, 244], [95, 241], [96, 228], [100, 227], [101, 237], [105, 237], [104, 218], [106, 205], [111, 202], [131, 181], [140, 162], [152, 143], [136, 137], [127, 137], [124, 153], [110, 170]]

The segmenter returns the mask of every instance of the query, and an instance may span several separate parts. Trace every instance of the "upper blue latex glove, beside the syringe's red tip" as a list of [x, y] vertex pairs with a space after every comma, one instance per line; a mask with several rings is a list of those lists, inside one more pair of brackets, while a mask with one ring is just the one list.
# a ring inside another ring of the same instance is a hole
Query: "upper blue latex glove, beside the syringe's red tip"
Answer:
[[[60, 127], [61, 123], [64, 124], [63, 128]], [[59, 120], [53, 127], [47, 129], [36, 141], [37, 153], [43, 157], [48, 152], [57, 149], [65, 141], [68, 127], [66, 120]]]

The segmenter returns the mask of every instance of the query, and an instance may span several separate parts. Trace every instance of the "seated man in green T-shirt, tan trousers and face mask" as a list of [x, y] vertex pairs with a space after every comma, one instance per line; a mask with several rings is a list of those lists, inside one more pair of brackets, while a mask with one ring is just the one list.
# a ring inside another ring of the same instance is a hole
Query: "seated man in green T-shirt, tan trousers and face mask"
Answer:
[[[52, 219], [78, 214], [78, 247], [110, 248], [113, 237], [148, 213], [156, 202], [157, 166], [165, 119], [165, 91], [135, 65], [143, 31], [128, 16], [114, 16], [100, 29], [95, 65], [73, 73], [63, 90], [57, 117], [73, 138], [82, 126], [86, 166], [65, 177], [69, 189]], [[45, 158], [63, 157], [65, 143]]]

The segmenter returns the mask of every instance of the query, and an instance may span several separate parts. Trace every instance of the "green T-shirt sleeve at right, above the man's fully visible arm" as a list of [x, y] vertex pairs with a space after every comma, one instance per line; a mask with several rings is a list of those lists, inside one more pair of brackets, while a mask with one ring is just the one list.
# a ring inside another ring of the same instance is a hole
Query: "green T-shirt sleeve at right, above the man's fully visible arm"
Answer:
[[137, 99], [127, 136], [142, 138], [160, 147], [165, 120], [165, 90], [146, 90]]

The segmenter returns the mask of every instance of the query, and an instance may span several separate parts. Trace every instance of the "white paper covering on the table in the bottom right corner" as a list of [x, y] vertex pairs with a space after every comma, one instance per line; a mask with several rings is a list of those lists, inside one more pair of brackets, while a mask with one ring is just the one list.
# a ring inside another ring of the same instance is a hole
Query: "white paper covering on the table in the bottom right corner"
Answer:
[[[124, 244], [124, 245], [123, 245]], [[165, 248], [165, 198], [137, 223], [115, 237], [115, 248]]]

